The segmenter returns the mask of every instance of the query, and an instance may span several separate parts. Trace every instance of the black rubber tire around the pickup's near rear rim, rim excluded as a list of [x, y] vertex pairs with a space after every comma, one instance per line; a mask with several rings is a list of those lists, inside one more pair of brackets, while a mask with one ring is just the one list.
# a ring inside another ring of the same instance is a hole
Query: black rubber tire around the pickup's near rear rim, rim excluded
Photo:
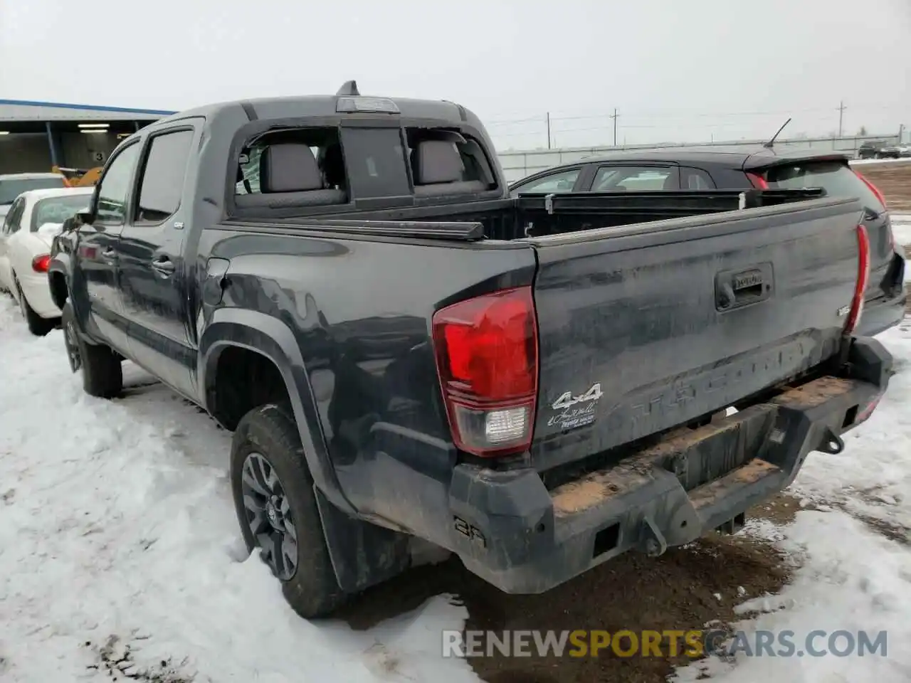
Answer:
[[[287, 409], [285, 409], [287, 410]], [[287, 502], [296, 535], [296, 567], [291, 576], [277, 573], [275, 563], [261, 549], [261, 558], [272, 574], [281, 581], [285, 600], [301, 617], [326, 617], [345, 601], [346, 595], [335, 579], [329, 551], [326, 549], [322, 521], [313, 492], [313, 479], [303, 454], [301, 438], [294, 421], [273, 403], [254, 408], [241, 418], [231, 442], [230, 480], [234, 507], [241, 525], [243, 540], [252, 552], [260, 544], [251, 526], [263, 524], [244, 505], [244, 466], [251, 466], [249, 456], [262, 456], [277, 476], [281, 497]], [[248, 476], [250, 471], [248, 470]], [[271, 531], [268, 526], [265, 527]]]

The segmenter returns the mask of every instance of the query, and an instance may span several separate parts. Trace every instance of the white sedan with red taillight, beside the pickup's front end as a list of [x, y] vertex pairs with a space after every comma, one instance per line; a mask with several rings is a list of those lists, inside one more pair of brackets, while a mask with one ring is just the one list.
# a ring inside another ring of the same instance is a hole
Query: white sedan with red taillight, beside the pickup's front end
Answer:
[[0, 230], [0, 289], [19, 302], [33, 334], [46, 334], [60, 320], [47, 284], [51, 243], [63, 221], [87, 208], [93, 190], [29, 190], [15, 198], [6, 214]]

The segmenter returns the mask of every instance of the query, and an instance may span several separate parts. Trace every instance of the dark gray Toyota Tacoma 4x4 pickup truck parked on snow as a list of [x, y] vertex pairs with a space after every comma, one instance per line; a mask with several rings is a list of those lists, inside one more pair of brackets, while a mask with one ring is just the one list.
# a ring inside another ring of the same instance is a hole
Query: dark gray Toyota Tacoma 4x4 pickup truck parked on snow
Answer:
[[413, 537], [536, 593], [738, 528], [875, 409], [863, 208], [823, 194], [510, 198], [465, 107], [346, 84], [124, 140], [49, 283], [87, 392], [128, 359], [234, 432], [303, 617]]

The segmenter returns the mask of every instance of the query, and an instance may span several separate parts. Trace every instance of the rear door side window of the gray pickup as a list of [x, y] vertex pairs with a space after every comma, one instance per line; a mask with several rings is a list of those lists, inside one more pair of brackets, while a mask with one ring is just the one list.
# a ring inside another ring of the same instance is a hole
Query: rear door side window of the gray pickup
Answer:
[[193, 135], [192, 130], [178, 130], [149, 140], [140, 175], [137, 223], [160, 223], [177, 212]]

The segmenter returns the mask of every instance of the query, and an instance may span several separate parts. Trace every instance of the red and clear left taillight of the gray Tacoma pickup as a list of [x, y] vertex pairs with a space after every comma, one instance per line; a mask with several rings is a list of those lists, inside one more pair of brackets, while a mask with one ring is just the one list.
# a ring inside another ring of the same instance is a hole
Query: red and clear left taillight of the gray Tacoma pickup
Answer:
[[531, 444], [537, 398], [537, 320], [530, 287], [436, 311], [436, 368], [455, 445], [484, 457]]

